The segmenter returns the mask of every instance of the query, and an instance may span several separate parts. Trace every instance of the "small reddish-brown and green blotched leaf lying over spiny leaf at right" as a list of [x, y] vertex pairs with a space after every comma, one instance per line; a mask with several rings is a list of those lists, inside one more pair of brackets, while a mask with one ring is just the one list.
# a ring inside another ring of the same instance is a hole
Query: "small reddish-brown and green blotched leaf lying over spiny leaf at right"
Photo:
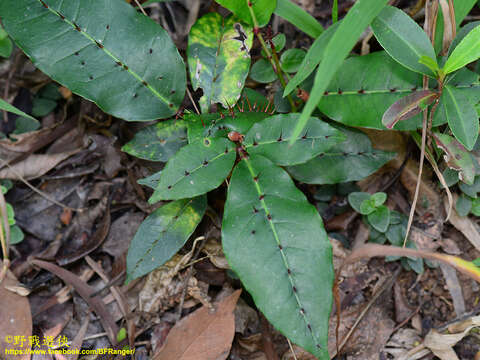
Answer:
[[389, 129], [393, 128], [397, 122], [410, 119], [419, 114], [423, 108], [430, 105], [436, 97], [437, 94], [433, 91], [422, 90], [395, 101], [383, 114], [383, 125]]

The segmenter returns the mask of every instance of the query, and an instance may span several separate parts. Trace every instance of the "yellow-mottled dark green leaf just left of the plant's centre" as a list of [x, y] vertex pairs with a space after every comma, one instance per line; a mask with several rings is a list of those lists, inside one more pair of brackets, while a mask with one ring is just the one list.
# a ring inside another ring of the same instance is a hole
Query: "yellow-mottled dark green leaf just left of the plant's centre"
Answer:
[[145, 160], [167, 162], [186, 144], [185, 121], [167, 120], [141, 129], [123, 145], [122, 151]]

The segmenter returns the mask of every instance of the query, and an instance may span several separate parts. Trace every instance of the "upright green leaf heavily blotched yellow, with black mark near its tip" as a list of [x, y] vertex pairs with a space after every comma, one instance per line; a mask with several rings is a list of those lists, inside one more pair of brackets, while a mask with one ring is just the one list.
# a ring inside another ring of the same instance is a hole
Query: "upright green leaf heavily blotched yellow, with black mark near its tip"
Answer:
[[193, 89], [202, 88], [202, 112], [210, 105], [233, 106], [242, 92], [250, 69], [253, 32], [233, 16], [202, 16], [188, 37], [188, 67]]

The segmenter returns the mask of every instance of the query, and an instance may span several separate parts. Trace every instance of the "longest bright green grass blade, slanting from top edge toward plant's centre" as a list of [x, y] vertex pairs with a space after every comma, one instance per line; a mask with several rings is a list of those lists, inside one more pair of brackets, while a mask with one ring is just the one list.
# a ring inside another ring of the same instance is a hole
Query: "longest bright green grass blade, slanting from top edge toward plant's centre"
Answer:
[[292, 134], [290, 145], [300, 135], [313, 110], [320, 102], [324, 91], [342, 65], [358, 38], [378, 15], [388, 0], [358, 0], [338, 26], [325, 49], [325, 56], [318, 67], [315, 82], [302, 115]]

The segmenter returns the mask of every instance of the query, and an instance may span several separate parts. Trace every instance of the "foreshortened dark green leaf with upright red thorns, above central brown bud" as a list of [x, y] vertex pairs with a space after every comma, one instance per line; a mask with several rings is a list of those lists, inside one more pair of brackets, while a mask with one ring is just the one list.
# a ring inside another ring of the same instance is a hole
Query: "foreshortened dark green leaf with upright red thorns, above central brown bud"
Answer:
[[253, 124], [269, 116], [264, 112], [240, 112], [235, 116], [190, 114], [184, 117], [188, 124], [188, 142], [200, 141], [204, 137], [227, 137], [230, 131], [246, 134]]

